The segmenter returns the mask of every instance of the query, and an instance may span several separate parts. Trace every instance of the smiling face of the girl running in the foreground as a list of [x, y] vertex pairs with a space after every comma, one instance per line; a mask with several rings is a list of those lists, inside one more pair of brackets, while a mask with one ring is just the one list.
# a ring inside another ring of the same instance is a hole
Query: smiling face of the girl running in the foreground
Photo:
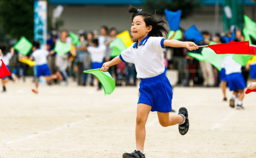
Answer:
[[131, 23], [131, 33], [136, 39], [145, 38], [151, 29], [152, 26], [146, 26], [143, 16], [140, 15], [135, 16]]

